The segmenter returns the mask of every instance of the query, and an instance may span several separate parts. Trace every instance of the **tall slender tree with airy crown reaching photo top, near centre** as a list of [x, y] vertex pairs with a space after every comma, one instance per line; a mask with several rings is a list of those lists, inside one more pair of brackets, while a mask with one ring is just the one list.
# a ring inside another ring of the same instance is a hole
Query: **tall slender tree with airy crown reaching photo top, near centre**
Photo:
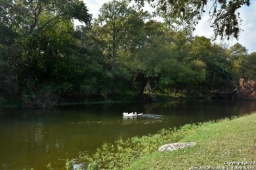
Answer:
[[121, 39], [127, 34], [127, 16], [131, 12], [127, 1], [111, 1], [104, 3], [100, 8], [100, 14], [95, 20], [94, 27], [99, 39], [106, 42], [104, 54], [112, 70], [116, 68], [117, 50]]

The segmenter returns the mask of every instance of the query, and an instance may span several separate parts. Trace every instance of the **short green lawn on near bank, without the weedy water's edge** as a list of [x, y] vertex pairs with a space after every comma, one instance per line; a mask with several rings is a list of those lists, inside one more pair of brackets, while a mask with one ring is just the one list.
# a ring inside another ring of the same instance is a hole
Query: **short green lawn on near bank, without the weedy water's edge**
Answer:
[[[225, 161], [256, 161], [256, 114], [202, 124], [191, 129], [180, 140], [188, 141], [197, 144], [173, 152], [153, 152], [135, 161], [127, 169], [190, 169], [202, 166], [217, 169], [232, 167], [226, 165]], [[256, 165], [245, 166], [256, 169]]]

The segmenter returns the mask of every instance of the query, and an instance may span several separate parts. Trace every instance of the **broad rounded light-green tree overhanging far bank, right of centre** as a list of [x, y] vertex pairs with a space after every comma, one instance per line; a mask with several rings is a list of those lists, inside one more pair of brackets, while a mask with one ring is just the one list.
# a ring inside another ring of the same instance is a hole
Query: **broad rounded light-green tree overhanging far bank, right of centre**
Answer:
[[193, 60], [185, 63], [182, 57], [187, 50], [185, 33], [174, 33], [161, 22], [150, 20], [144, 24], [144, 44], [136, 58], [131, 59], [133, 85], [138, 93], [170, 92], [195, 86], [205, 80], [205, 65]]

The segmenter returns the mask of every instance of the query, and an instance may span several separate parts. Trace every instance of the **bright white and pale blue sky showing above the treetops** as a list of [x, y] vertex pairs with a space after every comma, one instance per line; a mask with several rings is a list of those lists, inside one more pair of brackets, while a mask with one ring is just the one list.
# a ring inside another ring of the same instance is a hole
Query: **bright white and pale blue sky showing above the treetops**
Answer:
[[[110, 0], [83, 0], [89, 9], [89, 13], [93, 14], [93, 18], [98, 16], [98, 10], [104, 3], [108, 3]], [[149, 5], [144, 7], [144, 10], [152, 12], [153, 9], [150, 9]], [[230, 41], [224, 41], [225, 44], [232, 46], [236, 42], [242, 44], [247, 48], [248, 53], [256, 52], [256, 1], [251, 0], [251, 5], [249, 7], [242, 7], [239, 12], [240, 17], [242, 18], [241, 28], [244, 31], [241, 31], [239, 40], [231, 39]], [[194, 35], [205, 36], [211, 38], [213, 35], [213, 29], [210, 27], [210, 22], [207, 22], [209, 19], [208, 12], [205, 12], [200, 20], [199, 24], [196, 26], [196, 31]], [[221, 42], [219, 39], [215, 41], [217, 43]]]

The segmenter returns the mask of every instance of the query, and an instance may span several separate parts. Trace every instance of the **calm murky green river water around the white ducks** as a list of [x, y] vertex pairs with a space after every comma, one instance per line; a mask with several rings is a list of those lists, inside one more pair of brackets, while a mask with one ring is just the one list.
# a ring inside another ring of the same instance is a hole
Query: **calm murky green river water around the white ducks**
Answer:
[[[121, 103], [56, 110], [0, 109], [0, 169], [64, 169], [66, 158], [95, 152], [104, 142], [237, 116], [256, 110], [256, 101]], [[122, 112], [143, 112], [123, 119]]]

